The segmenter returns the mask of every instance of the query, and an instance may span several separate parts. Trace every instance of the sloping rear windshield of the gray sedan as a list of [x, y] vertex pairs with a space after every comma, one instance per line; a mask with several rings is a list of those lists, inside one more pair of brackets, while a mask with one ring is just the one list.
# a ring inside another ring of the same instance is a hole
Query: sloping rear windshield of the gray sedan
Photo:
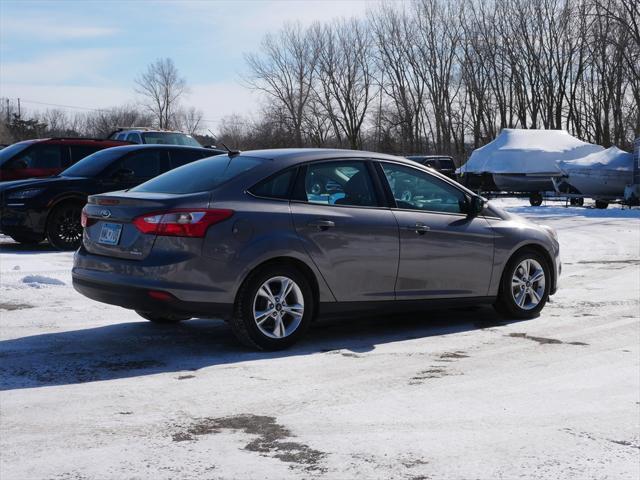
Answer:
[[207, 192], [264, 162], [256, 157], [218, 155], [178, 167], [131, 189], [132, 192]]

